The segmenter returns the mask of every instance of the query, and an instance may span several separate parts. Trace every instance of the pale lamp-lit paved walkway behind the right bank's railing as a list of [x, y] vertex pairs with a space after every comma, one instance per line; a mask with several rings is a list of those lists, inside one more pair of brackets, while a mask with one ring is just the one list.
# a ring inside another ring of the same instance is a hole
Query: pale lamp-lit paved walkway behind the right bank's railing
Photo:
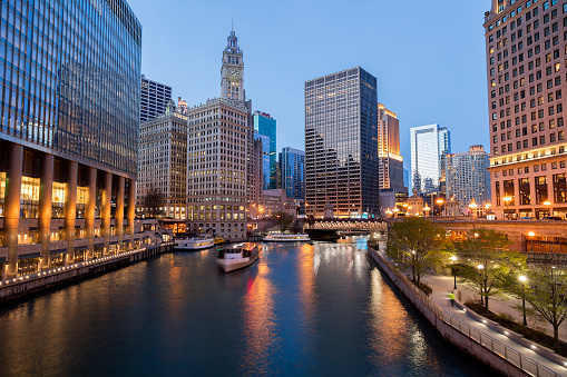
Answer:
[[[385, 259], [388, 259], [392, 265], [394, 265], [394, 262], [390, 258], [385, 257], [383, 247], [380, 247], [380, 254]], [[541, 355], [535, 353], [532, 349], [511, 340], [507, 336], [505, 336], [498, 331], [495, 331], [491, 328], [489, 328], [488, 326], [486, 326], [485, 324], [479, 323], [476, 319], [467, 316], [467, 314], [463, 310], [459, 309], [458, 307], [451, 306], [450, 301], [449, 301], [449, 292], [452, 291], [452, 287], [453, 287], [452, 277], [428, 275], [422, 278], [422, 281], [427, 282], [433, 289], [433, 292], [429, 297], [437, 305], [439, 305], [441, 307], [441, 309], [450, 312], [451, 315], [456, 316], [460, 320], [483, 331], [485, 334], [501, 341], [502, 344], [517, 350], [518, 353], [521, 353], [522, 355], [541, 364], [542, 366], [549, 368], [550, 370], [557, 373], [558, 375], [567, 376], [567, 368], [565, 366], [561, 366], [559, 364], [556, 364], [556, 363], [542, 357]]]

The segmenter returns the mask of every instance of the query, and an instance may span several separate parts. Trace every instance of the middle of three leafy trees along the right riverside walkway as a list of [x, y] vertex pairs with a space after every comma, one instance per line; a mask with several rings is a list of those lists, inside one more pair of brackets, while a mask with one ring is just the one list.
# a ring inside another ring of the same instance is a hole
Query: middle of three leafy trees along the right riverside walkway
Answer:
[[457, 244], [459, 275], [480, 296], [486, 314], [489, 298], [504, 292], [508, 274], [526, 264], [526, 257], [509, 247], [508, 235], [487, 228], [469, 230], [467, 239]]

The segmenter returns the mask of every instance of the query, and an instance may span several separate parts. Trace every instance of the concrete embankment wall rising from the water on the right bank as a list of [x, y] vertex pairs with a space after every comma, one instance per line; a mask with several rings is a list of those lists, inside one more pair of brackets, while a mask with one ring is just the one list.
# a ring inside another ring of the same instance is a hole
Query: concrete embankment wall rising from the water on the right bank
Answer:
[[451, 344], [505, 376], [559, 377], [539, 363], [442, 310], [371, 247], [369, 255], [422, 316]]

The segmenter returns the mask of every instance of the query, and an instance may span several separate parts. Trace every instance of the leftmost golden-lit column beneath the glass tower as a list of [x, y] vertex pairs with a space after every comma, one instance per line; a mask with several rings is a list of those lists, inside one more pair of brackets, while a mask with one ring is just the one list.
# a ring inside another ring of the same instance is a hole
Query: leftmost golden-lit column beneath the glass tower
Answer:
[[23, 147], [9, 143], [8, 169], [6, 173], [4, 198], [4, 245], [8, 247], [8, 261], [4, 265], [4, 279], [18, 275], [18, 227], [20, 225], [20, 192]]

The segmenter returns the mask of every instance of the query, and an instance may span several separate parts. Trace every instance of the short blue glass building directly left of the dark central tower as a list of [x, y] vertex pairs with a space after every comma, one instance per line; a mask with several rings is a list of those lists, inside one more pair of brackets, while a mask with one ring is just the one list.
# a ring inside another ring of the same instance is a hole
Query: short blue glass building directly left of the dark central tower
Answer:
[[282, 148], [278, 166], [282, 189], [287, 197], [305, 200], [305, 152], [290, 147]]

